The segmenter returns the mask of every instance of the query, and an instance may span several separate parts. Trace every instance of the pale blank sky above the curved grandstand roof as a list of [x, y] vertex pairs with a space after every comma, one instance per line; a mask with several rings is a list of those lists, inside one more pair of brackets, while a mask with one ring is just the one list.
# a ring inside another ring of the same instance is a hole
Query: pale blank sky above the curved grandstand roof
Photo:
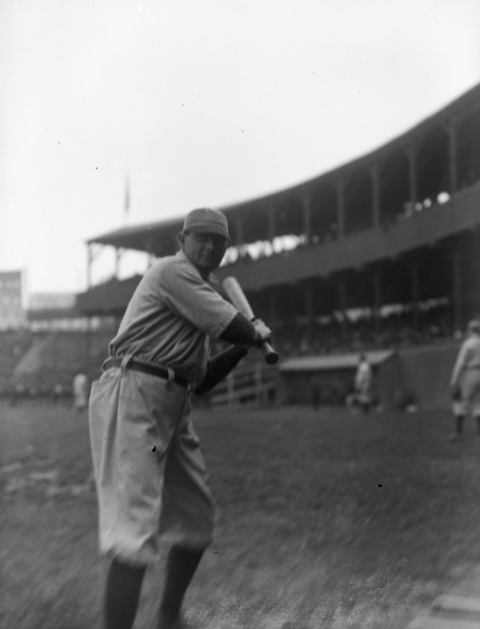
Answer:
[[478, 0], [0, 0], [0, 270], [83, 290], [127, 176], [140, 224], [382, 145], [479, 83], [479, 24]]

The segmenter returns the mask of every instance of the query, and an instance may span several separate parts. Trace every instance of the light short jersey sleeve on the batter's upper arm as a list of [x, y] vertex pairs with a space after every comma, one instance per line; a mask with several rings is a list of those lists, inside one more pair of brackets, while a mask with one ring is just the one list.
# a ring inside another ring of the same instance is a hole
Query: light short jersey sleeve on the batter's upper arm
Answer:
[[219, 338], [238, 314], [190, 263], [163, 270], [161, 296], [169, 309], [213, 338]]

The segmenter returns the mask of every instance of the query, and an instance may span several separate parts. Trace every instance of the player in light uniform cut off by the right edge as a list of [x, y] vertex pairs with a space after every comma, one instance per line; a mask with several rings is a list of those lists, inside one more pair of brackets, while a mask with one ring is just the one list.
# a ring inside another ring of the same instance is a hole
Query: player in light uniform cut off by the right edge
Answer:
[[463, 421], [467, 415], [477, 420], [480, 434], [480, 321], [468, 324], [467, 338], [463, 341], [455, 361], [450, 380], [455, 432], [450, 441], [458, 441], [463, 434]]

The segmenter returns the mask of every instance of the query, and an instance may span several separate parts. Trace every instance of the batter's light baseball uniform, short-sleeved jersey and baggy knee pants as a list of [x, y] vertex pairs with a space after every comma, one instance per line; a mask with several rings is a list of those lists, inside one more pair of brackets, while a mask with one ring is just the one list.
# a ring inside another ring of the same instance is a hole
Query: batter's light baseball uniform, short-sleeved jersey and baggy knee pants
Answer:
[[[155, 562], [160, 534], [193, 548], [205, 548], [213, 536], [215, 502], [188, 416], [190, 391], [205, 375], [208, 337], [219, 338], [238, 314], [210, 286], [213, 280], [183, 252], [156, 262], [92, 384], [100, 549], [129, 564]], [[129, 368], [133, 360], [163, 367], [169, 377]]]

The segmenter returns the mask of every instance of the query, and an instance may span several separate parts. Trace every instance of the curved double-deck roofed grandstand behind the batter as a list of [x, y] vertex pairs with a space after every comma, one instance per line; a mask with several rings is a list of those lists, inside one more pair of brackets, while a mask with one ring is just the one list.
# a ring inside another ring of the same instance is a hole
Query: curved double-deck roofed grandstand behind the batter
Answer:
[[[419, 361], [408, 352], [445, 345], [450, 360], [455, 336], [480, 313], [480, 85], [368, 154], [220, 209], [232, 239], [216, 275], [240, 281], [283, 359], [391, 350], [406, 357], [404, 379], [415, 389], [415, 363], [428, 370], [440, 354]], [[140, 276], [92, 285], [97, 254], [174, 254], [182, 223], [88, 240], [88, 289], [76, 296], [76, 313], [115, 327]], [[84, 343], [88, 360], [96, 344]], [[414, 397], [446, 404], [439, 382]]]

